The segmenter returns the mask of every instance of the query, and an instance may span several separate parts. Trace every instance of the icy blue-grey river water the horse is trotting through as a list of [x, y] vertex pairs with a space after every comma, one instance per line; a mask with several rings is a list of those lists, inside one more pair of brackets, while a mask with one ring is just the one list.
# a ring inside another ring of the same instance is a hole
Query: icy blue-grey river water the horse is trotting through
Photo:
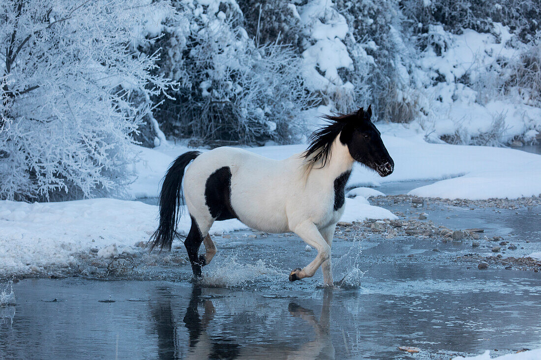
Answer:
[[[541, 251], [539, 206], [386, 201], [405, 217], [424, 211], [437, 225], [512, 238], [513, 256]], [[147, 269], [171, 281], [26, 279], [13, 292], [0, 284], [0, 298], [16, 303], [0, 307], [0, 359], [449, 359], [541, 347], [541, 272], [457, 261], [474, 251], [471, 240], [339, 231], [333, 275], [341, 286], [330, 291], [320, 288], [320, 270], [287, 280], [315, 256], [298, 237], [252, 231], [215, 237], [219, 252], [197, 284], [187, 264]]]

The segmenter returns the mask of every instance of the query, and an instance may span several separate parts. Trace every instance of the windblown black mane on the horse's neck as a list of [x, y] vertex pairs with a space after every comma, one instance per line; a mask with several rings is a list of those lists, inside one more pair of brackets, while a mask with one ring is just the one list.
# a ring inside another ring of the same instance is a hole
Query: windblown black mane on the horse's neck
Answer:
[[321, 166], [325, 166], [329, 157], [331, 157], [331, 148], [334, 139], [337, 138], [340, 131], [344, 129], [347, 123], [353, 121], [357, 117], [357, 113], [352, 114], [335, 114], [324, 115], [323, 119], [327, 121], [326, 125], [322, 125], [318, 130], [315, 130], [308, 138], [310, 145], [304, 153], [304, 157], [310, 162], [322, 160]]

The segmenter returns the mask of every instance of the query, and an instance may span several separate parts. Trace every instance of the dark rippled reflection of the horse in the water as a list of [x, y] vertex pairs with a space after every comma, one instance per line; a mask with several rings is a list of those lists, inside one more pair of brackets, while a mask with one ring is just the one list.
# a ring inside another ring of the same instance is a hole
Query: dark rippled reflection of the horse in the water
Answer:
[[[315, 337], [313, 341], [292, 346], [289, 344], [241, 345], [238, 338], [227, 338], [225, 335], [210, 334], [208, 325], [216, 316], [216, 310], [210, 299], [202, 298], [202, 289], [194, 286], [186, 314], [184, 327], [188, 330], [188, 349], [181, 346], [179, 334], [174, 320], [174, 311], [170, 299], [158, 302], [153, 306], [153, 317], [156, 322], [158, 336], [158, 352], [160, 359], [334, 359], [335, 351], [331, 342], [330, 310], [332, 290], [324, 290], [321, 315], [318, 317], [312, 310], [296, 303], [289, 303], [291, 316], [300, 317], [312, 326]], [[200, 310], [202, 312], [200, 313]]]

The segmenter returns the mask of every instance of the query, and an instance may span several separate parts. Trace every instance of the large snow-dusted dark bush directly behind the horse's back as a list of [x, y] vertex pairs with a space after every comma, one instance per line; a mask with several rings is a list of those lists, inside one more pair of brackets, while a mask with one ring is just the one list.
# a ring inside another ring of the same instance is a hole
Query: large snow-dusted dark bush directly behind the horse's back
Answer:
[[183, 19], [157, 43], [165, 49], [159, 71], [181, 84], [155, 112], [162, 128], [226, 142], [294, 141], [311, 101], [301, 58], [287, 46], [256, 46], [233, 0], [176, 6]]

